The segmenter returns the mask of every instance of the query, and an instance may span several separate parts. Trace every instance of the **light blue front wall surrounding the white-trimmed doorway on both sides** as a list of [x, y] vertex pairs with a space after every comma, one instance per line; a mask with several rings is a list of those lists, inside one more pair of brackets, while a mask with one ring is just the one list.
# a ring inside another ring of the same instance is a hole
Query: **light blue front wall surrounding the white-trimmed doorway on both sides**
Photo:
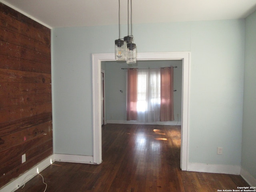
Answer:
[[[189, 161], [240, 165], [244, 20], [133, 30], [138, 52], [191, 51]], [[117, 37], [118, 26], [53, 29], [55, 153], [92, 155], [91, 54], [113, 53]], [[218, 146], [223, 155], [216, 154]]]

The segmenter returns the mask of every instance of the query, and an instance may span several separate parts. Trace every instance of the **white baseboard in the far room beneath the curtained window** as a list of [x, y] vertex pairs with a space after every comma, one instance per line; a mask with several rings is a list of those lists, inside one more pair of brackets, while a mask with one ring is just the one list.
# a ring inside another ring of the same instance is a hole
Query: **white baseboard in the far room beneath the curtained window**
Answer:
[[157, 121], [157, 122], [139, 122], [135, 120], [126, 121], [126, 120], [106, 120], [106, 123], [113, 124], [144, 124], [144, 125], [181, 125], [181, 122], [175, 121]]

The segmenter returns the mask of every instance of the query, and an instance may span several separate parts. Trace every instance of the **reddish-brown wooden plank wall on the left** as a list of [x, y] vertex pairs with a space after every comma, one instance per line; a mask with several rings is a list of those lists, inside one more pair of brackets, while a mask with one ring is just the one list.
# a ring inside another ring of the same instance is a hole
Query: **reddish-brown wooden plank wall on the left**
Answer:
[[0, 188], [52, 153], [50, 29], [0, 3]]

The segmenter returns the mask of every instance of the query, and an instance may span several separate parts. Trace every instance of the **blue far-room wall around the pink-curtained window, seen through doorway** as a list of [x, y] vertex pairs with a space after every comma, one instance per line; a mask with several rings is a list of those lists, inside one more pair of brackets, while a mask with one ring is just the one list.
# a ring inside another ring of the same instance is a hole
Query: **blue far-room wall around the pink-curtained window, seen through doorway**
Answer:
[[[126, 121], [126, 79], [128, 68], [126, 62], [102, 62], [102, 66], [106, 66], [105, 73], [105, 106], [106, 120]], [[174, 118], [179, 121], [181, 117], [182, 105], [182, 60], [172, 61], [137, 61], [132, 67], [136, 68], [161, 68], [177, 66], [174, 68]], [[122, 90], [122, 93], [120, 92]]]

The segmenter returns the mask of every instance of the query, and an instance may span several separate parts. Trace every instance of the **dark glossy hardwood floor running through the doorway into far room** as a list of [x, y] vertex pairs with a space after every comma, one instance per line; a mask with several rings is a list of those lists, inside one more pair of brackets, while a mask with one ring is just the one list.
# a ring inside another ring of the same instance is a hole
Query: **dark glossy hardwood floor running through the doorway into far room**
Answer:
[[[217, 192], [249, 186], [241, 176], [180, 170], [180, 126], [107, 124], [100, 165], [54, 162], [46, 192]], [[16, 192], [43, 192], [40, 175]]]

